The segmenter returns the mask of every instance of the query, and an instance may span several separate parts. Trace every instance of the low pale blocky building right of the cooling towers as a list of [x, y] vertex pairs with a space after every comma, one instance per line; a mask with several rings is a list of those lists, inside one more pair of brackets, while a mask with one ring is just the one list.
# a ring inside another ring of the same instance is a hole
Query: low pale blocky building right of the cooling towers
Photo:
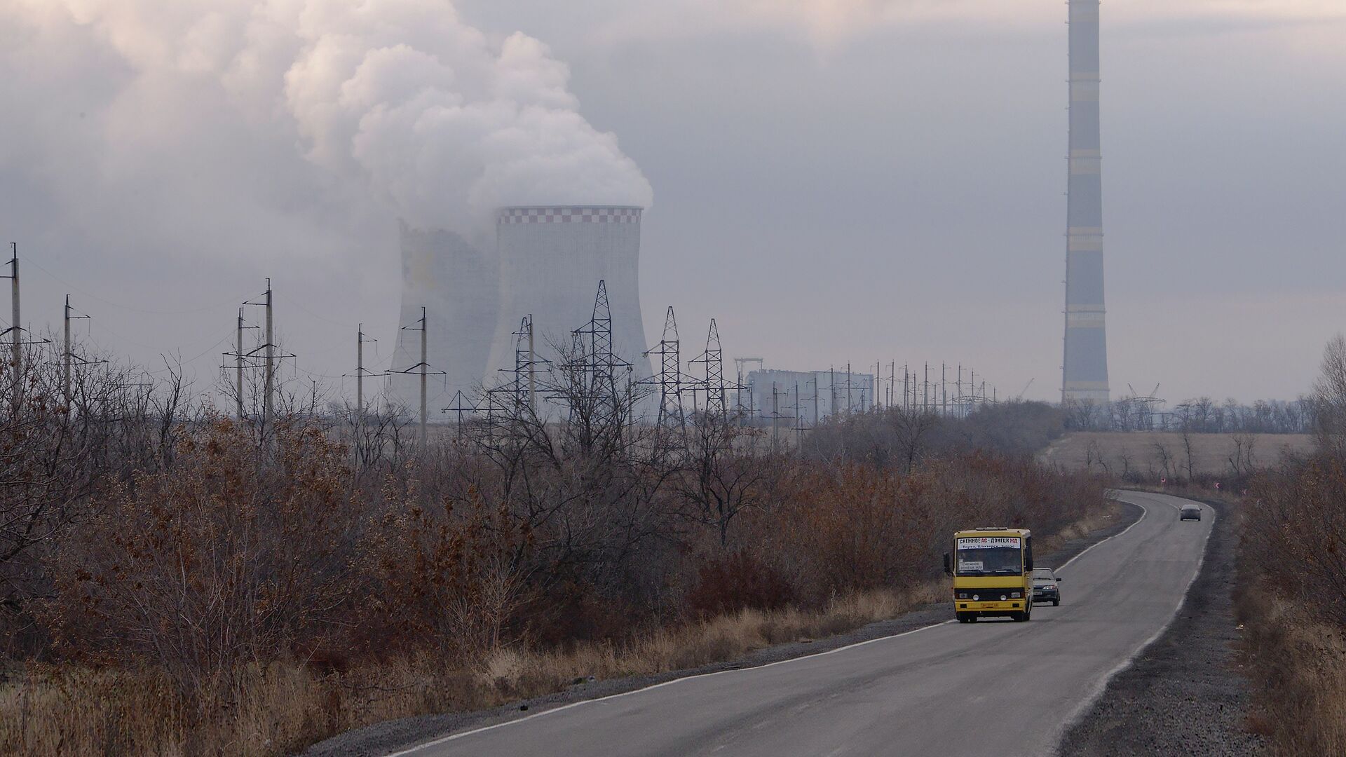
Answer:
[[739, 391], [744, 415], [759, 423], [813, 427], [818, 419], [874, 407], [874, 374], [845, 370], [750, 370]]

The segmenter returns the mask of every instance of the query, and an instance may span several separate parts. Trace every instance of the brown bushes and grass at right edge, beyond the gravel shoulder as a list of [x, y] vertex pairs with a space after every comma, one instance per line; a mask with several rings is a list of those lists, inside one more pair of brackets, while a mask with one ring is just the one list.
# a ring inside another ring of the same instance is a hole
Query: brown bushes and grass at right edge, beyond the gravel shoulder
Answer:
[[1238, 616], [1281, 754], [1346, 754], [1346, 339], [1314, 391], [1315, 447], [1257, 477], [1241, 523]]

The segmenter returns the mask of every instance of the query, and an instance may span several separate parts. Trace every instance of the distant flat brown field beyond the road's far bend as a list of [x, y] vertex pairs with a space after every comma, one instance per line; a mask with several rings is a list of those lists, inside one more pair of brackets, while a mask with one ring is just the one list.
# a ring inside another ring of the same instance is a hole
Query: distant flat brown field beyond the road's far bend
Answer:
[[[1236, 461], [1240, 470], [1265, 467], [1275, 465], [1283, 453], [1312, 449], [1308, 434], [1191, 434], [1190, 440], [1195, 475], [1236, 473]], [[1053, 442], [1040, 459], [1067, 470], [1102, 467], [1121, 477], [1187, 474], [1187, 450], [1178, 432], [1074, 431]]]

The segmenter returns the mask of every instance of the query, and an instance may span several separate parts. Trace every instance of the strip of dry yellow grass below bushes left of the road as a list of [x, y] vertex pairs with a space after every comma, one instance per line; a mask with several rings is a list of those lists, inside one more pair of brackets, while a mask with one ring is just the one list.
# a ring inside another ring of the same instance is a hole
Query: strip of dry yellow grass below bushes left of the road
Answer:
[[351, 727], [408, 715], [474, 710], [560, 691], [590, 676], [622, 678], [695, 668], [789, 641], [845, 633], [937, 601], [942, 583], [910, 594], [837, 597], [821, 612], [740, 610], [629, 644], [534, 651], [503, 647], [468, 668], [429, 655], [388, 660], [341, 675], [300, 664], [245, 669], [214, 687], [190, 718], [163, 675], [30, 665], [0, 688], [4, 754], [284, 754]]

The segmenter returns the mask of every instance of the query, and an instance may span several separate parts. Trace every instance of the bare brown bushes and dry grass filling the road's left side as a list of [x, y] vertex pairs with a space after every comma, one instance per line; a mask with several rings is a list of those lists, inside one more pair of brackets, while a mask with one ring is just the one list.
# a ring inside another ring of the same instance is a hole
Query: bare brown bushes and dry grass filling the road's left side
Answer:
[[40, 349], [0, 381], [7, 754], [284, 754], [734, 659], [935, 599], [957, 528], [1047, 548], [1108, 506], [1032, 461], [1046, 405], [871, 412], [782, 454], [732, 415], [631, 424], [642, 397], [560, 369], [567, 412], [506, 397], [417, 454], [404, 415], [281, 392], [262, 424], [245, 388], [240, 422], [171, 366], [85, 366], [67, 399]]

